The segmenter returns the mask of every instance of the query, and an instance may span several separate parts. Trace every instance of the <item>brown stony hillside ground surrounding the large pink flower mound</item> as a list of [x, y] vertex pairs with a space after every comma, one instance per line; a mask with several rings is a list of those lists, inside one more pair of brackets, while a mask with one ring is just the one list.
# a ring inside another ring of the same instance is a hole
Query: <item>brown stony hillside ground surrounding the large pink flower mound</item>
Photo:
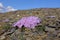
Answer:
[[[24, 16], [38, 16], [42, 19], [35, 29], [12, 27]], [[60, 9], [18, 10], [0, 14], [0, 40], [60, 40]]]

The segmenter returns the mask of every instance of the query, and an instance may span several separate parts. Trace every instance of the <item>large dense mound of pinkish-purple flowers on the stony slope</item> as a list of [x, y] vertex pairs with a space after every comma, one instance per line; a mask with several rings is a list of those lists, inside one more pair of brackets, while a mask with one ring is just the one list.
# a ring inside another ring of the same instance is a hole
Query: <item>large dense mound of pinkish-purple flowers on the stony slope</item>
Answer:
[[35, 26], [41, 22], [41, 19], [36, 16], [23, 17], [19, 21], [14, 23], [14, 27], [18, 26], [21, 28], [23, 25], [27, 28], [35, 28]]

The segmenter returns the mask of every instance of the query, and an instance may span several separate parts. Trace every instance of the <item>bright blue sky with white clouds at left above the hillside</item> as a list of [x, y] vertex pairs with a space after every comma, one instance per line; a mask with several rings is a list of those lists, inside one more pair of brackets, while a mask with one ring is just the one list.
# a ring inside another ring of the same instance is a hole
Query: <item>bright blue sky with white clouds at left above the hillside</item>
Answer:
[[0, 0], [0, 10], [26, 10], [33, 8], [60, 8], [60, 0]]

